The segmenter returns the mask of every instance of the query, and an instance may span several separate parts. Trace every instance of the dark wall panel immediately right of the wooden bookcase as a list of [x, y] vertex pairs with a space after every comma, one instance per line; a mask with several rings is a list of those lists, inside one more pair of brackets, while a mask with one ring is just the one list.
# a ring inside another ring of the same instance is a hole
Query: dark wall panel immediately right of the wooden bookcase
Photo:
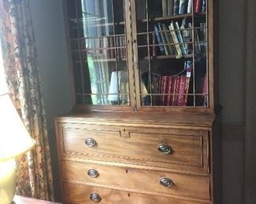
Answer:
[[246, 1], [219, 0], [223, 203], [243, 204]]

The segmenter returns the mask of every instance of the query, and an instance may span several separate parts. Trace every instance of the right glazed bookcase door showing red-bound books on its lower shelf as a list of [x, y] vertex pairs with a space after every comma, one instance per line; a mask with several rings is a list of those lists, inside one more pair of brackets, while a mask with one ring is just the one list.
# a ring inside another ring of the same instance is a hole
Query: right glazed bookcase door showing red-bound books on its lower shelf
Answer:
[[139, 110], [210, 111], [213, 107], [209, 89], [213, 65], [208, 60], [213, 57], [208, 37], [211, 1], [195, 5], [190, 0], [131, 0]]

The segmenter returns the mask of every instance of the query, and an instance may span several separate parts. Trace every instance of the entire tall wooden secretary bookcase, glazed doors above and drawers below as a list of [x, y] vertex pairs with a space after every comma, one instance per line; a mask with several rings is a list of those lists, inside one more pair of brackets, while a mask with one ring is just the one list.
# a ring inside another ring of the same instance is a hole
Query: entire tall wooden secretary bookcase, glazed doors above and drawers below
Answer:
[[63, 203], [221, 203], [214, 0], [64, 0]]

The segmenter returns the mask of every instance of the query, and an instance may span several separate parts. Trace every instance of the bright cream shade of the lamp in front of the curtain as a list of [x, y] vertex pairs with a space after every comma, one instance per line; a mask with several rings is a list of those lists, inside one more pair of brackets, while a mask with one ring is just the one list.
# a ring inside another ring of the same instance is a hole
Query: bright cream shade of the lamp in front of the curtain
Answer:
[[33, 140], [7, 93], [0, 95], [0, 162], [33, 148]]

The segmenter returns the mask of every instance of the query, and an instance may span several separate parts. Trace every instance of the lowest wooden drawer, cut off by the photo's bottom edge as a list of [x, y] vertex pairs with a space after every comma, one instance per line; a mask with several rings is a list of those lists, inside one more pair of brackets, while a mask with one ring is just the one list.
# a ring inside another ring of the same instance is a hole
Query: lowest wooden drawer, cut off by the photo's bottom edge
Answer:
[[[99, 203], [104, 204], [198, 204], [210, 203], [209, 201], [190, 201], [184, 198], [169, 199], [161, 196], [145, 195], [139, 193], [131, 193], [128, 191], [117, 191], [109, 188], [96, 188], [94, 186], [87, 186], [83, 184], [64, 182], [63, 203], [95, 203], [91, 201], [90, 197], [94, 194], [95, 199], [99, 199]], [[99, 197], [98, 197], [98, 196]]]

